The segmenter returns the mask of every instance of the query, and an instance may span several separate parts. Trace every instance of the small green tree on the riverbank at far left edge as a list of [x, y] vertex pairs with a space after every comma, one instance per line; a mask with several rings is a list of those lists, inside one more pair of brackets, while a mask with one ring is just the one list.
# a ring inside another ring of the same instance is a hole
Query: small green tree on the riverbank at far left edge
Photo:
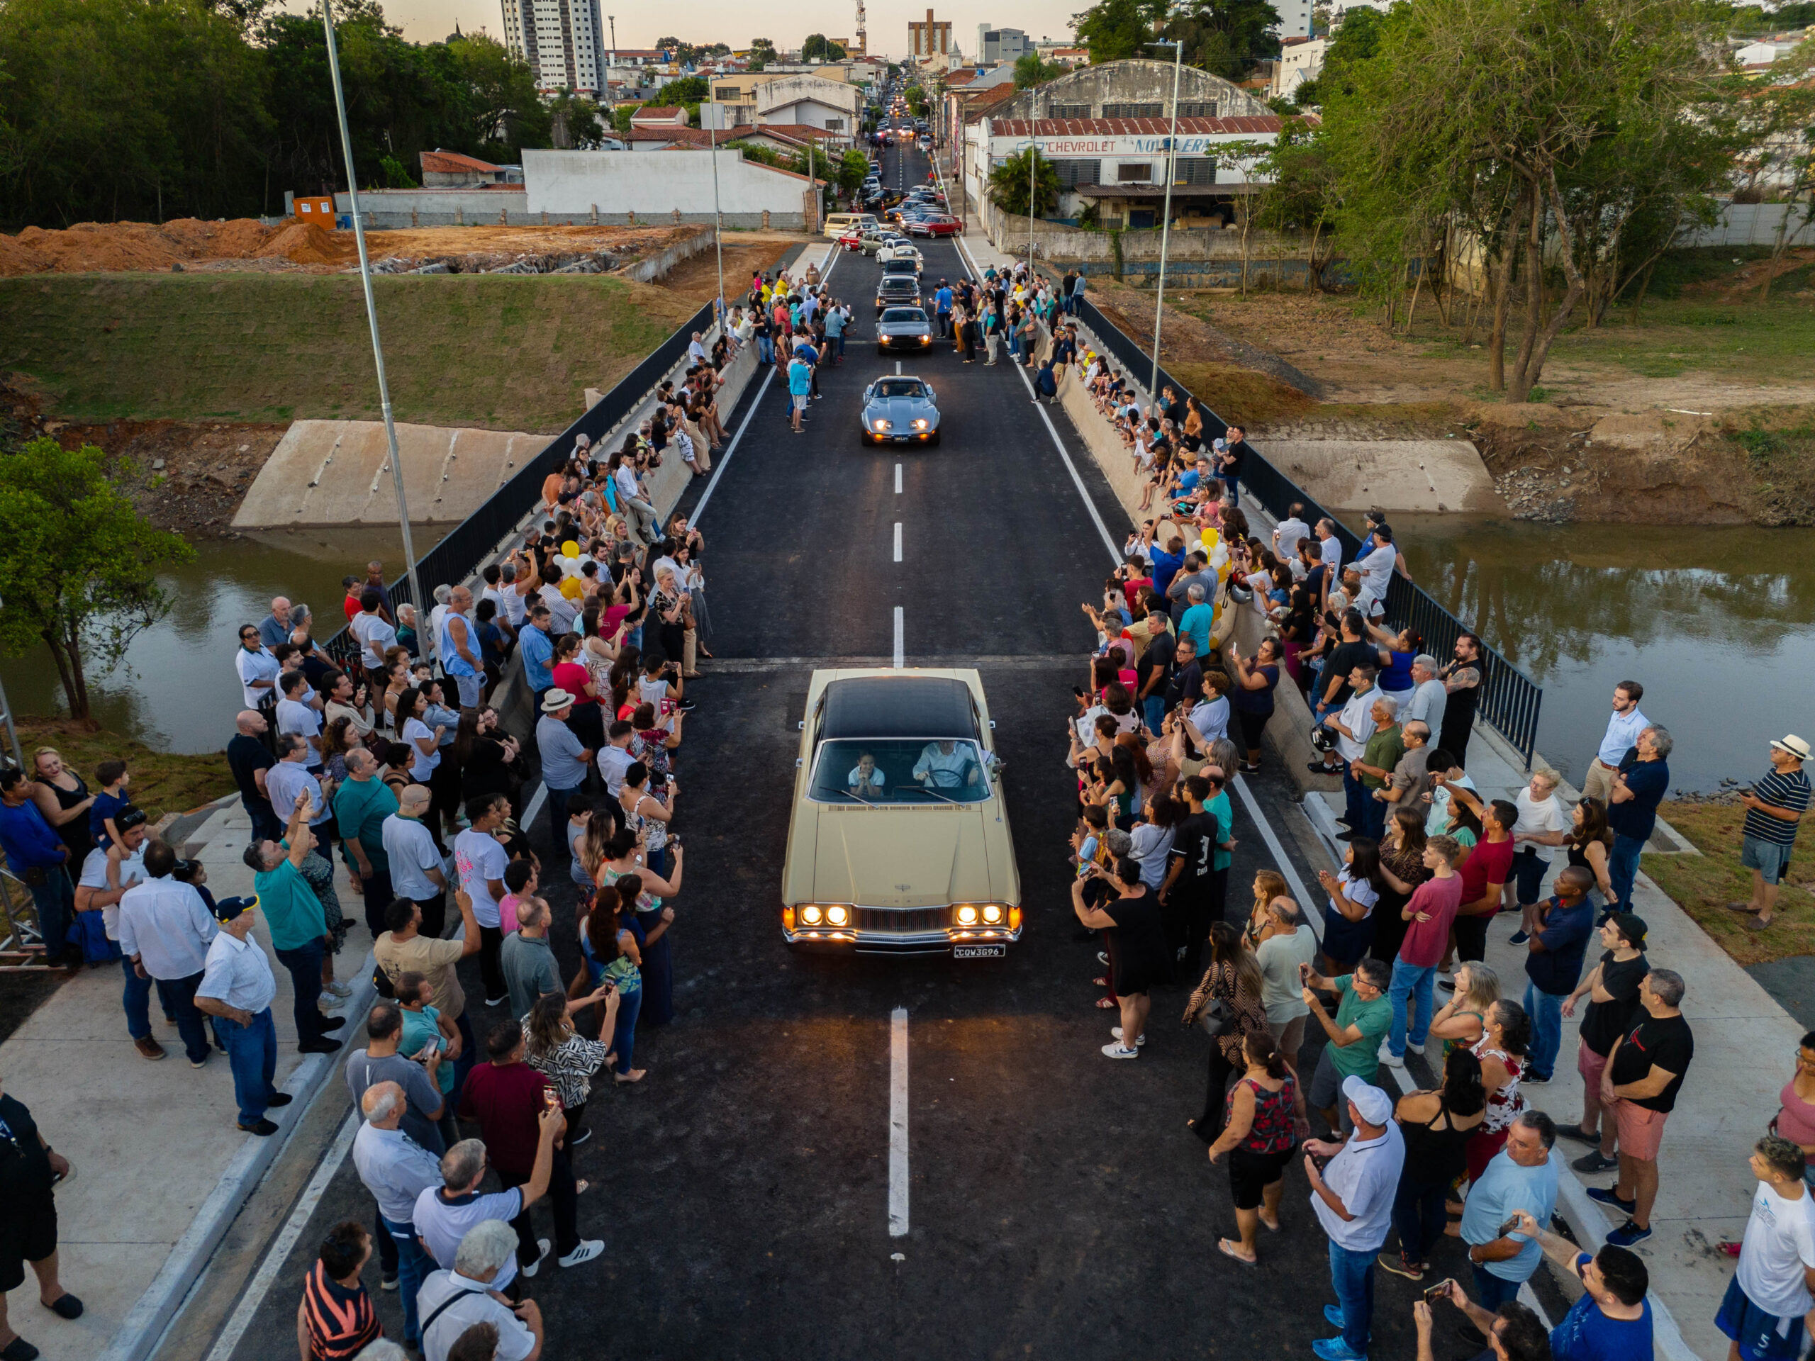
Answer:
[[47, 437], [0, 457], [0, 646], [49, 646], [69, 717], [82, 722], [89, 673], [118, 666], [171, 608], [156, 572], [194, 557], [138, 514], [103, 465], [93, 445], [65, 450]]

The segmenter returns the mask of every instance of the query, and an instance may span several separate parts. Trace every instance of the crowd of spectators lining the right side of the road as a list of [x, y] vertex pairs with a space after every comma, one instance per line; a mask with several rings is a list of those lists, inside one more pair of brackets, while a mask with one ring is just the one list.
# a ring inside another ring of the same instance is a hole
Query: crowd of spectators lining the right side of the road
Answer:
[[[1336, 1336], [1316, 1343], [1327, 1361], [1367, 1356], [1378, 1270], [1423, 1287], [1456, 1268], [1454, 1250], [1468, 1258], [1463, 1283], [1439, 1279], [1416, 1301], [1421, 1356], [1430, 1307], [1447, 1301], [1483, 1357], [1650, 1357], [1648, 1270], [1634, 1248], [1653, 1234], [1659, 1147], [1695, 1053], [1688, 984], [1648, 956], [1632, 898], [1670, 782], [1670, 731], [1626, 680], [1581, 798], [1565, 806], [1548, 769], [1510, 798], [1479, 791], [1465, 762], [1485, 648], [1463, 633], [1439, 662], [1416, 632], [1388, 626], [1387, 588], [1405, 564], [1385, 519], [1370, 517], [1349, 563], [1334, 526], [1296, 506], [1263, 541], [1236, 501], [1240, 432], [1207, 439], [1196, 403], [1171, 390], [1143, 414], [1102, 359], [1087, 365], [1154, 508], [1102, 602], [1084, 604], [1096, 646], [1067, 719], [1073, 909], [1094, 947], [1096, 1005], [1120, 1022], [1102, 1053], [1136, 1060], [1154, 993], [1183, 993], [1182, 1022], [1209, 1038], [1189, 1125], [1227, 1165], [1234, 1203], [1218, 1248], [1260, 1259], [1258, 1229], [1280, 1225], [1301, 1161], [1336, 1294], [1323, 1310]], [[1261, 615], [1254, 655], [1238, 637], [1254, 633], [1238, 630], [1247, 610]], [[1320, 902], [1296, 902], [1267, 869], [1252, 906], [1231, 907], [1229, 786], [1260, 769], [1281, 680], [1314, 715], [1309, 773], [1343, 782], [1343, 858], [1318, 875]], [[1742, 793], [1755, 891], [1730, 906], [1751, 929], [1771, 924], [1810, 802], [1808, 757], [1795, 735], [1773, 742], [1768, 775]], [[1523, 947], [1517, 985], [1485, 962], [1494, 920]], [[1579, 1121], [1559, 1125], [1526, 1091], [1552, 1082], [1566, 1018], [1581, 1025], [1584, 1100]], [[1321, 1045], [1307, 1047], [1307, 1031]], [[1815, 1303], [1811, 1042], [1753, 1150], [1753, 1221], [1730, 1245], [1741, 1268], [1717, 1323], [1735, 1361], [1797, 1357]], [[1579, 1174], [1612, 1174], [1588, 1187], [1617, 1223], [1594, 1256], [1550, 1230], [1568, 1143], [1581, 1145]], [[1550, 1330], [1517, 1299], [1546, 1256], [1584, 1288]]]

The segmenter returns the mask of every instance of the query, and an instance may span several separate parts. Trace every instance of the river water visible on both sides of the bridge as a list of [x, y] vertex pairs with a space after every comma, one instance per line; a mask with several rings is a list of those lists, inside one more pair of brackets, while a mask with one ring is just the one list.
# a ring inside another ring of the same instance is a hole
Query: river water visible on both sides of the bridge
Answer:
[[[443, 526], [445, 528], [445, 526]], [[1530, 524], [1396, 515], [1412, 575], [1545, 688], [1539, 753], [1579, 782], [1624, 679], [1677, 739], [1673, 784], [1713, 789], [1757, 778], [1766, 742], [1815, 739], [1815, 534], [1761, 528]], [[439, 528], [416, 532], [425, 552]], [[91, 677], [96, 717], [167, 751], [218, 751], [232, 733], [238, 624], [272, 595], [305, 601], [318, 637], [339, 628], [341, 577], [403, 561], [396, 530], [272, 532], [209, 541], [165, 575], [169, 617], [129, 664]], [[54, 713], [49, 653], [0, 662], [20, 713]]]

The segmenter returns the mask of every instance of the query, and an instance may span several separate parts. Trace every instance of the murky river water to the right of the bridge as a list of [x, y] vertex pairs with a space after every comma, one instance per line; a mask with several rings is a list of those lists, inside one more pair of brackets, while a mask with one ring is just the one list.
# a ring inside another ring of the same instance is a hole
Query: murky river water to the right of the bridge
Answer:
[[1581, 782], [1614, 686], [1675, 737], [1672, 784], [1759, 778], [1815, 739], [1815, 534], [1394, 515], [1418, 583], [1545, 688], [1537, 751]]

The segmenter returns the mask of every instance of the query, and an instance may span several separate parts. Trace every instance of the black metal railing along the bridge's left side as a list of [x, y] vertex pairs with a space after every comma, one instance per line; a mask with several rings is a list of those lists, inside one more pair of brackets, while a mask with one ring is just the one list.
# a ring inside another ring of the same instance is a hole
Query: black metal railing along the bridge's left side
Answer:
[[[597, 445], [681, 361], [693, 332], [706, 332], [711, 325], [713, 308], [711, 303], [706, 303], [681, 330], [655, 347], [643, 363], [632, 368], [617, 387], [606, 392], [574, 425], [550, 439], [548, 446], [525, 463], [508, 483], [492, 492], [485, 504], [456, 524], [441, 543], [423, 553], [416, 563], [416, 575], [423, 586], [432, 592], [436, 586], [452, 586], [472, 575], [474, 568], [517, 526], [530, 506], [541, 501], [543, 481], [574, 454], [574, 437], [586, 436]], [[408, 573], [392, 581], [388, 590], [392, 602], [421, 608], [421, 601], [410, 595]], [[427, 626], [427, 619], [419, 619], [417, 622]], [[323, 650], [334, 661], [348, 664], [359, 655], [359, 642], [343, 628], [323, 644]]]

